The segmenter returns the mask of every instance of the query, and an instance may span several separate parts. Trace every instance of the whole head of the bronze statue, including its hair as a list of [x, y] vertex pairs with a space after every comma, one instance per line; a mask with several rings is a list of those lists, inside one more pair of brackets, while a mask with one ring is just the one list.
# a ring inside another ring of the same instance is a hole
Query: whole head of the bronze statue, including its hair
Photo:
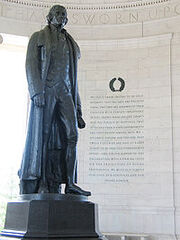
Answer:
[[63, 28], [68, 22], [67, 11], [65, 7], [61, 5], [54, 5], [47, 15], [47, 21], [48, 24]]

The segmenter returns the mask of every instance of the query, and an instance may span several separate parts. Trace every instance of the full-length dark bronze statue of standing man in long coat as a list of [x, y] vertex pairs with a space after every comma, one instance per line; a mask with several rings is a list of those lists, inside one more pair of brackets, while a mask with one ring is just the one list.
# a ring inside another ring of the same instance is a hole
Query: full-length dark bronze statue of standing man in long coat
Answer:
[[31, 110], [20, 177], [20, 193], [65, 193], [89, 196], [76, 183], [77, 128], [84, 128], [77, 86], [80, 50], [66, 32], [67, 12], [55, 5], [48, 26], [28, 45], [26, 72]]

